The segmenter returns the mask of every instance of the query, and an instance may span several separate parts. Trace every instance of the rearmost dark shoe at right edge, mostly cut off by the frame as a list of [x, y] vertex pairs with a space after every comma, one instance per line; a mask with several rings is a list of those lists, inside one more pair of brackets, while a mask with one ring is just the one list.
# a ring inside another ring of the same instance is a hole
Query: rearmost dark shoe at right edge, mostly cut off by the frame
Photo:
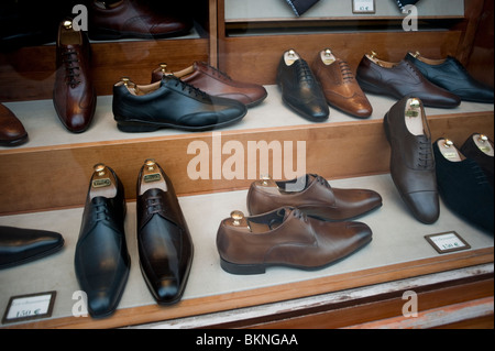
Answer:
[[461, 146], [461, 153], [477, 162], [493, 187], [494, 180], [494, 147], [487, 135], [474, 133]]

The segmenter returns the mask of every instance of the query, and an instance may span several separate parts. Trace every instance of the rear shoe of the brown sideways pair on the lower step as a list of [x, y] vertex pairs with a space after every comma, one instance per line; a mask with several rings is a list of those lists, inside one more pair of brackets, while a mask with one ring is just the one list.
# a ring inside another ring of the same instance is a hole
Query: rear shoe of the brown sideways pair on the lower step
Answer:
[[[297, 207], [306, 215], [328, 221], [356, 218], [382, 206], [378, 193], [367, 189], [338, 189], [316, 174], [290, 182], [263, 179], [253, 182], [248, 193], [251, 215], [279, 207]], [[297, 185], [300, 185], [297, 189]]]

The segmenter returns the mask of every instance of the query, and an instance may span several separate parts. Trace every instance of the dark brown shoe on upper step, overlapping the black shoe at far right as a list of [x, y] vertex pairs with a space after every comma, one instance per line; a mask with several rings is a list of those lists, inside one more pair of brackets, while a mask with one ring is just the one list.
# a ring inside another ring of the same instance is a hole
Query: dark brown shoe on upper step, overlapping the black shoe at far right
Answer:
[[386, 95], [397, 100], [415, 97], [421, 99], [425, 106], [435, 108], [455, 108], [461, 103], [458, 96], [427, 80], [408, 61], [381, 64], [383, 66], [371, 61], [367, 55], [361, 59], [356, 79], [364, 91]]

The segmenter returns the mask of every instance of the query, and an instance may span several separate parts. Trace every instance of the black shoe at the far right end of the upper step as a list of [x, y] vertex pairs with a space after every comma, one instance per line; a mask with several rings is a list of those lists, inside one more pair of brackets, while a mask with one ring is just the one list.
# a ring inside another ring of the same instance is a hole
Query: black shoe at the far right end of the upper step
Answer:
[[459, 96], [462, 100], [493, 103], [493, 89], [474, 79], [454, 57], [430, 59], [419, 53], [406, 55], [422, 75], [435, 85]]

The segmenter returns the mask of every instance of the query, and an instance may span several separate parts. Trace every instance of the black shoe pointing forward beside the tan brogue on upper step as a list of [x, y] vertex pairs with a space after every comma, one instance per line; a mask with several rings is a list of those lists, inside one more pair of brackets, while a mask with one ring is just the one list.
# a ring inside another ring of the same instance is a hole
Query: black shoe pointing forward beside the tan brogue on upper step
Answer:
[[295, 51], [284, 53], [278, 64], [277, 85], [290, 109], [312, 122], [328, 120], [330, 109], [320, 84], [306, 61]]

